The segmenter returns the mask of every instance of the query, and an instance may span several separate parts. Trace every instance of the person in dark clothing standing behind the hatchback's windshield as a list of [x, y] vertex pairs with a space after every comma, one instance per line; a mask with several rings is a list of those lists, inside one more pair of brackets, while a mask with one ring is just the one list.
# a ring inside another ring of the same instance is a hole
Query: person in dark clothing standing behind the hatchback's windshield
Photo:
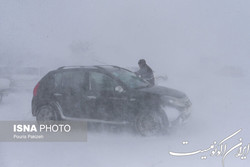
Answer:
[[153, 74], [153, 70], [147, 65], [146, 60], [140, 59], [138, 61], [138, 65], [140, 67], [139, 71], [136, 72], [142, 79], [148, 81], [150, 84], [155, 84], [155, 78]]

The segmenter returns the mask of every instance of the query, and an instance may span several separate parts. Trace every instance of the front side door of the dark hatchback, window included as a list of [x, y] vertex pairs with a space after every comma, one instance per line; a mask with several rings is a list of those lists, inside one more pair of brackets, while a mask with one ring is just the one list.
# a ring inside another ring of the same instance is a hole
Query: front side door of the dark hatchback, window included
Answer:
[[89, 71], [89, 89], [86, 92], [89, 118], [104, 121], [122, 121], [126, 110], [125, 93], [115, 91], [119, 83], [100, 71]]

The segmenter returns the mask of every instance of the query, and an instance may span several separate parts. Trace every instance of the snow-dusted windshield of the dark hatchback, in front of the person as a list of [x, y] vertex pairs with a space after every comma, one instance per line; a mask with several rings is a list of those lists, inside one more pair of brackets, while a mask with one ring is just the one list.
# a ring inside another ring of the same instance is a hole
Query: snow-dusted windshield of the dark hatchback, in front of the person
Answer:
[[111, 74], [116, 78], [120, 79], [126, 86], [132, 89], [145, 88], [150, 86], [150, 84], [138, 77], [135, 73], [127, 71], [121, 68], [110, 68], [108, 69]]

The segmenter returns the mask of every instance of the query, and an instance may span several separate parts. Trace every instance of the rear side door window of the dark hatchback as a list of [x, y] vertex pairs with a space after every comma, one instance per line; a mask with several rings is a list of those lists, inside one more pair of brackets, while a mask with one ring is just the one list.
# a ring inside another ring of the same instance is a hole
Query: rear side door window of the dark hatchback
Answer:
[[[56, 79], [60, 82], [60, 76]], [[73, 91], [82, 91], [87, 89], [84, 71], [64, 71], [62, 78], [63, 89], [71, 89]]]

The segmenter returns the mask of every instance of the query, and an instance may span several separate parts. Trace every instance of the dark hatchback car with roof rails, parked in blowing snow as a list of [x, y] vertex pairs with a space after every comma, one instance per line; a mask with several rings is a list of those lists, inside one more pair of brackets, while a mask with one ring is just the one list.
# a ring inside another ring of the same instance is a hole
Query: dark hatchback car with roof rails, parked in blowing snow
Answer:
[[60, 67], [35, 86], [32, 115], [37, 121], [84, 120], [132, 125], [158, 134], [190, 116], [191, 102], [177, 90], [150, 85], [117, 66]]

